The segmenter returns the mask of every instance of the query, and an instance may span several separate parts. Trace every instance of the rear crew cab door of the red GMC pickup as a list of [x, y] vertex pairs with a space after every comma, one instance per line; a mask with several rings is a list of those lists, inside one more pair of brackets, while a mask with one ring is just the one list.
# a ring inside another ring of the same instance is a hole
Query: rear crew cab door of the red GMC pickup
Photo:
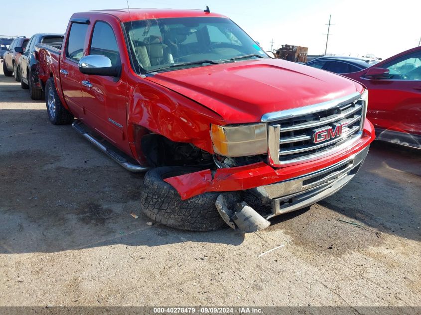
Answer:
[[[89, 20], [74, 19], [67, 31], [65, 47], [60, 56], [60, 81], [64, 100], [72, 113], [79, 119], [86, 119], [86, 110], [82, 95], [84, 75], [79, 71], [79, 60], [86, 47]], [[89, 118], [88, 118], [89, 119]]]

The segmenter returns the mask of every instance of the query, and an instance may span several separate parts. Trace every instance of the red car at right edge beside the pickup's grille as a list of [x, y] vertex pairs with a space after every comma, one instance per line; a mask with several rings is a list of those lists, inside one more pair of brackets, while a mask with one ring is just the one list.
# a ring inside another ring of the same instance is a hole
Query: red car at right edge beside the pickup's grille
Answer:
[[370, 91], [367, 118], [377, 139], [421, 149], [421, 47], [344, 76]]

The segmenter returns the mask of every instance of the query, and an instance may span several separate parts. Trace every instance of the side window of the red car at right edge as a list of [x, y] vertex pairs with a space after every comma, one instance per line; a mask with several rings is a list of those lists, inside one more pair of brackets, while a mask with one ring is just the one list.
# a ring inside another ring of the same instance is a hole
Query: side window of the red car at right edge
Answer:
[[416, 52], [385, 64], [394, 80], [421, 80], [421, 52]]

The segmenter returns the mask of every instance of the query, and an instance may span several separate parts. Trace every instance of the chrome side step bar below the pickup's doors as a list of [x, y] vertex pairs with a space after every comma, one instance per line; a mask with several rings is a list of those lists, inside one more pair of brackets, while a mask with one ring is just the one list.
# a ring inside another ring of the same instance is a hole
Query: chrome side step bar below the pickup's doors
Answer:
[[104, 139], [100, 140], [100, 139], [95, 138], [93, 135], [91, 135], [89, 131], [85, 129], [84, 124], [81, 121], [79, 120], [74, 121], [72, 123], [72, 127], [77, 132], [79, 132], [84, 138], [88, 139], [92, 144], [94, 144], [98, 149], [103, 151], [105, 154], [111, 157], [114, 161], [116, 161], [121, 166], [123, 166], [126, 170], [130, 172], [141, 173], [141, 172], [146, 172], [149, 169], [148, 167], [144, 167], [139, 164], [128, 161], [128, 158], [124, 156], [125, 155], [124, 153], [122, 152], [120, 153], [117, 150], [113, 150], [112, 148], [105, 146], [101, 142], [105, 142], [106, 140]]

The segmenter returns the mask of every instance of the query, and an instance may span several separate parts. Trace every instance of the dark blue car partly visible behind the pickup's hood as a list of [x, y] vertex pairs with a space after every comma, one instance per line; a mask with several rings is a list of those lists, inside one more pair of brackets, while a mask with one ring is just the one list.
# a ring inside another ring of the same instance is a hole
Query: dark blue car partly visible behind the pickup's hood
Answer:
[[337, 74], [344, 74], [366, 69], [376, 63], [378, 63], [377, 60], [369, 58], [323, 56], [307, 62], [306, 65]]

